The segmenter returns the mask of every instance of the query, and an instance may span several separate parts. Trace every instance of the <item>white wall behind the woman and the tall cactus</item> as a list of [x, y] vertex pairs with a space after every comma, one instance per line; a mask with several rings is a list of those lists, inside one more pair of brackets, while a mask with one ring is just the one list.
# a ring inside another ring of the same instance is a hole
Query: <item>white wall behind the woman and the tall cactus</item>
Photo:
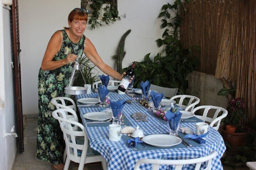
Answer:
[[[37, 76], [41, 61], [52, 34], [68, 26], [67, 17], [75, 7], [80, 7], [80, 0], [19, 0], [20, 42], [21, 42], [21, 85], [23, 114], [37, 114]], [[118, 0], [119, 14], [126, 18], [114, 24], [104, 25], [95, 30], [88, 24], [87, 36], [95, 45], [103, 61], [116, 69], [115, 55], [121, 36], [131, 29], [126, 38], [126, 55], [123, 68], [136, 61], [142, 61], [151, 53], [161, 52], [155, 40], [162, 37], [161, 19], [158, 15], [162, 5], [172, 0]]]

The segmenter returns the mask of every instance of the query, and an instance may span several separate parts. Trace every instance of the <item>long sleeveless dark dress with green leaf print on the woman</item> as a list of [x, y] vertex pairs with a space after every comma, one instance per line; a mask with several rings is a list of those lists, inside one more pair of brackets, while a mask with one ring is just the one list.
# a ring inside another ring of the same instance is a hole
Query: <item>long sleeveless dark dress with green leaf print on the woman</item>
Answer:
[[[63, 60], [68, 54], [75, 54], [82, 57], [85, 43], [83, 35], [79, 42], [73, 43], [66, 31], [63, 29], [62, 46], [60, 51], [53, 57], [53, 61]], [[63, 163], [65, 141], [57, 119], [52, 117], [56, 110], [51, 104], [52, 98], [67, 96], [64, 93], [69, 83], [74, 63], [66, 64], [55, 70], [43, 71], [41, 68], [38, 74], [38, 128], [37, 128], [37, 150], [38, 159], [53, 164]]]

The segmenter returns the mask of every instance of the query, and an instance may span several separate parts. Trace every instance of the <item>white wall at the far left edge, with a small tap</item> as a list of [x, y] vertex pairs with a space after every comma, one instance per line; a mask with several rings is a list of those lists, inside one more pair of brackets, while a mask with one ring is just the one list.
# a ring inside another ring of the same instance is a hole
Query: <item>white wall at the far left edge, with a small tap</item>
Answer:
[[11, 67], [11, 29], [10, 11], [2, 6], [0, 0], [0, 169], [11, 170], [16, 155], [14, 136], [6, 136], [14, 125], [14, 94]]

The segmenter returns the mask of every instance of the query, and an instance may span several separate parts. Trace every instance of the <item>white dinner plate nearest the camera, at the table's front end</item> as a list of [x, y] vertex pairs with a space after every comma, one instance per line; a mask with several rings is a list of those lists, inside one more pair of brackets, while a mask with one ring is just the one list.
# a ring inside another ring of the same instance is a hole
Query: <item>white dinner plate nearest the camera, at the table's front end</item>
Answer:
[[180, 138], [169, 134], [150, 134], [142, 138], [142, 141], [155, 147], [171, 147], [181, 143]]

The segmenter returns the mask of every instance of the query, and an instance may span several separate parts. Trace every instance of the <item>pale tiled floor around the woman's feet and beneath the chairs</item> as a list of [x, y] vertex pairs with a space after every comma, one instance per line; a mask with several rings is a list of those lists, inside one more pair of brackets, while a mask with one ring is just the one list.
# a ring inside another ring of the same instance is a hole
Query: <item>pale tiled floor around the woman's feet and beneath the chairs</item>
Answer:
[[[14, 162], [13, 170], [30, 170], [30, 169], [53, 169], [53, 164], [40, 161], [36, 158], [36, 142], [37, 142], [37, 118], [25, 119], [24, 121], [24, 153], [18, 154]], [[78, 164], [71, 162], [69, 170], [77, 170]], [[101, 170], [101, 162], [85, 164], [84, 170]], [[223, 167], [224, 170], [232, 170], [228, 166]], [[236, 170], [248, 170], [246, 167], [237, 167]]]

